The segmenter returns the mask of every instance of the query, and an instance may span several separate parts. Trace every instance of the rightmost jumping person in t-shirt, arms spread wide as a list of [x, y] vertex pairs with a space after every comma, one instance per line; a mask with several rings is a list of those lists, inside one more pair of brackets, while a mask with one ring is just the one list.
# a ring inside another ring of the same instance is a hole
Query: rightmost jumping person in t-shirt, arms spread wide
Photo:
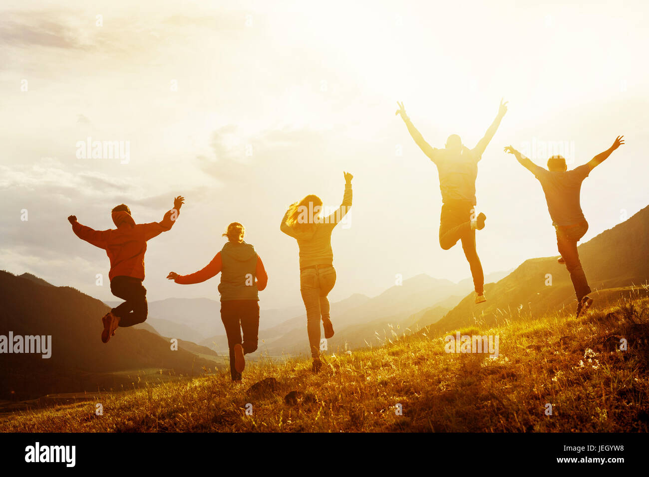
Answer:
[[557, 249], [561, 254], [559, 263], [565, 263], [570, 280], [577, 296], [577, 318], [584, 314], [593, 304], [589, 297], [591, 288], [588, 285], [586, 274], [582, 268], [577, 251], [577, 242], [588, 230], [588, 222], [583, 216], [580, 205], [580, 192], [582, 182], [588, 177], [591, 170], [602, 163], [620, 145], [624, 144], [624, 136], [615, 138], [613, 145], [606, 151], [593, 157], [589, 162], [568, 170], [566, 161], [562, 156], [552, 156], [548, 159], [548, 169], [537, 166], [528, 157], [520, 154], [512, 146], [506, 146], [505, 152], [513, 154], [517, 161], [528, 169], [541, 183], [548, 212], [552, 218], [552, 225], [557, 234]]

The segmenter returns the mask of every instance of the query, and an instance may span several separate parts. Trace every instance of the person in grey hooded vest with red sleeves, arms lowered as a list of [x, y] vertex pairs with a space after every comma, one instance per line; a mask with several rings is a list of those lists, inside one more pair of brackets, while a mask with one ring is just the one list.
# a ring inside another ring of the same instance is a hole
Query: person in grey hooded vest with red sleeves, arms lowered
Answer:
[[[201, 283], [221, 272], [221, 321], [228, 337], [230, 349], [230, 375], [241, 382], [245, 367], [243, 355], [257, 349], [259, 334], [259, 296], [266, 288], [268, 275], [262, 259], [251, 244], [243, 241], [245, 229], [239, 222], [232, 222], [223, 237], [228, 241], [210, 263], [190, 275], [169, 272], [167, 278], [182, 285]], [[243, 331], [243, 340], [241, 340]]]

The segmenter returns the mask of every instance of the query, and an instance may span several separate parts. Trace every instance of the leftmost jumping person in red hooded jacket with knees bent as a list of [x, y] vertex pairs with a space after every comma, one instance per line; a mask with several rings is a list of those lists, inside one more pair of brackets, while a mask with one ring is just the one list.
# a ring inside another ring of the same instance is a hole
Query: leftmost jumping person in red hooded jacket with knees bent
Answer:
[[124, 204], [117, 205], [112, 210], [113, 222], [117, 229], [93, 230], [79, 224], [74, 215], [67, 218], [77, 237], [106, 250], [110, 259], [110, 291], [114, 296], [126, 300], [102, 318], [104, 331], [101, 333], [101, 340], [104, 343], [115, 334], [117, 327], [137, 325], [147, 319], [147, 289], [142, 285], [147, 240], [171, 229], [183, 203], [184, 198], [178, 196], [173, 201], [173, 209], [167, 211], [160, 222], [151, 224], [136, 224], [130, 215], [129, 207]]

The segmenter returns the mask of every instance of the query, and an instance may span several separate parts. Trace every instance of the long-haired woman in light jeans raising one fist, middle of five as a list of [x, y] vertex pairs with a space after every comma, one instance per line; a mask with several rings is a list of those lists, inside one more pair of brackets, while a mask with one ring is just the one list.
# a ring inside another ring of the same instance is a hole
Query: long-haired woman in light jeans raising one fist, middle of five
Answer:
[[320, 360], [320, 320], [324, 338], [334, 336], [327, 295], [336, 284], [331, 233], [352, 206], [352, 174], [345, 175], [343, 203], [334, 213], [323, 216], [323, 201], [313, 194], [291, 204], [282, 218], [280, 229], [297, 240], [300, 250], [300, 294], [306, 308], [313, 372], [322, 367]]

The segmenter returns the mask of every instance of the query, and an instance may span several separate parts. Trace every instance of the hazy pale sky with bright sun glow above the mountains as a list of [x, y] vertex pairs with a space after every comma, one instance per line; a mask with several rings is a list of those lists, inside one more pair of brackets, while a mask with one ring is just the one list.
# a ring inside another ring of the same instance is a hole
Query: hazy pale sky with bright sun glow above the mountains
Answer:
[[[114, 299], [105, 253], [66, 217], [107, 229], [125, 202], [136, 222], [153, 222], [182, 194], [175, 227], [149, 242], [149, 299], [218, 299], [218, 279], [165, 276], [202, 268], [238, 221], [269, 273], [262, 307], [295, 305], [297, 244], [280, 220], [309, 193], [339, 205], [347, 170], [354, 205], [332, 240], [334, 301], [376, 294], [397, 273], [469, 277], [461, 247], [439, 248], [437, 171], [395, 117], [397, 100], [440, 148], [453, 133], [473, 147], [509, 100], [476, 183], [486, 273], [557, 255], [541, 186], [503, 146], [530, 146], [545, 165], [544, 146], [561, 143], [581, 164], [625, 135], [583, 183], [584, 240], [649, 202], [644, 1], [59, 4], [0, 7], [0, 268], [10, 272]], [[87, 137], [129, 141], [129, 162], [77, 157]]]

